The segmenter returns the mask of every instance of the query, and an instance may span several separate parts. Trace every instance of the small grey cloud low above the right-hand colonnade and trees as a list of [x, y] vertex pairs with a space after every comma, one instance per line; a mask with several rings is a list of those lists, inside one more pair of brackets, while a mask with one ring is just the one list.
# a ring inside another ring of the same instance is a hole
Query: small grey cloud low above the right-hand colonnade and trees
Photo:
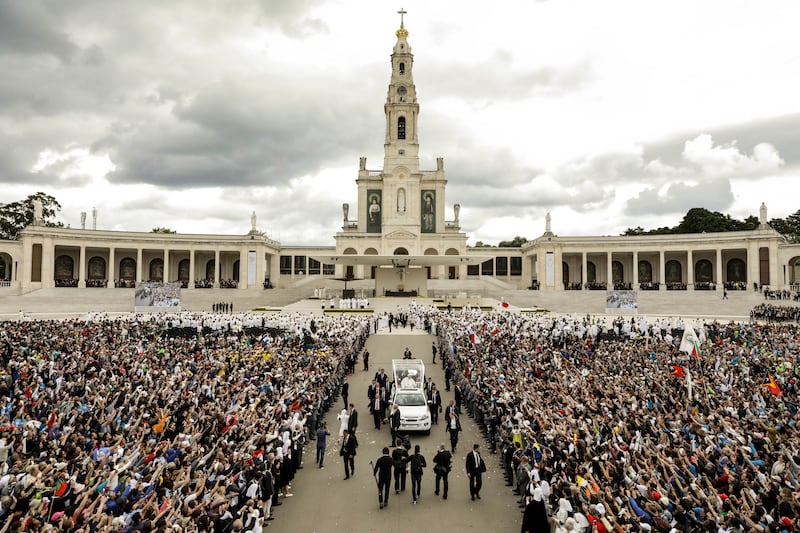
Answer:
[[693, 207], [704, 207], [710, 211], [725, 212], [733, 205], [733, 191], [727, 179], [709, 180], [688, 185], [673, 183], [664, 194], [648, 188], [628, 200], [623, 209], [629, 216], [665, 215], [685, 213]]

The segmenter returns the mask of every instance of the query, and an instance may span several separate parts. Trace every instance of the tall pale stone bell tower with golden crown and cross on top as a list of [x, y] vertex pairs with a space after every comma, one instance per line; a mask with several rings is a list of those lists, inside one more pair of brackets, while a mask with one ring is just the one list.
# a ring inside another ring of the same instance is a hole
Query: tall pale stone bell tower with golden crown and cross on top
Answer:
[[400, 29], [395, 32], [397, 42], [392, 51], [392, 76], [383, 109], [386, 114], [386, 138], [384, 140], [384, 169], [405, 167], [408, 172], [419, 171], [419, 138], [417, 121], [419, 104], [414, 86], [414, 55], [408, 45], [408, 30], [403, 24], [401, 9]]

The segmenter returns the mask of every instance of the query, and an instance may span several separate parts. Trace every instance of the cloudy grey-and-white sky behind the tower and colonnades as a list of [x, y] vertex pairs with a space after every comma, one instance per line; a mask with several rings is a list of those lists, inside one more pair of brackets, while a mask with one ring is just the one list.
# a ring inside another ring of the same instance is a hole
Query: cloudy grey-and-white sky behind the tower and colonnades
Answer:
[[400, 7], [470, 244], [800, 208], [795, 0], [0, 0], [0, 202], [333, 244]]

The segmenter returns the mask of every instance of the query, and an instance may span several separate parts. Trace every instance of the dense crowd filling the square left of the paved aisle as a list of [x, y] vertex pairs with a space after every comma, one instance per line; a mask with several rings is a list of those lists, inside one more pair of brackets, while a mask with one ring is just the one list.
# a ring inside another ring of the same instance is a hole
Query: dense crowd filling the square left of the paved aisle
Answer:
[[299, 314], [0, 324], [0, 531], [260, 531], [367, 335]]

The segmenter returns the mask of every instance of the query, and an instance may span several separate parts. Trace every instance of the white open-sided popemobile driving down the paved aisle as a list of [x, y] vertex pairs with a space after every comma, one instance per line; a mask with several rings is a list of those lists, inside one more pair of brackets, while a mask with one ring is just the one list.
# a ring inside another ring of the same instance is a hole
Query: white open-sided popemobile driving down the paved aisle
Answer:
[[421, 359], [392, 359], [394, 397], [400, 409], [400, 431], [431, 431], [431, 412], [425, 397], [425, 363]]

